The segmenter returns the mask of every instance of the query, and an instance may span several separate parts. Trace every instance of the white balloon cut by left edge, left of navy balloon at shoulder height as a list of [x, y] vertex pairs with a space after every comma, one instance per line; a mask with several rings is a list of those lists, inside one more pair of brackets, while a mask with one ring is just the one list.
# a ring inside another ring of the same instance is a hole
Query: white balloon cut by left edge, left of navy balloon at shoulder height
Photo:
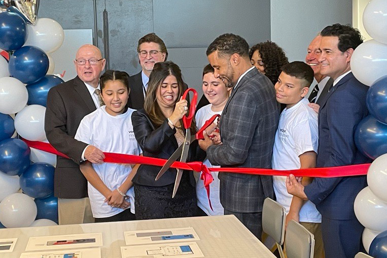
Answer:
[[0, 78], [0, 92], [0, 113], [15, 114], [27, 104], [27, 89], [13, 77]]

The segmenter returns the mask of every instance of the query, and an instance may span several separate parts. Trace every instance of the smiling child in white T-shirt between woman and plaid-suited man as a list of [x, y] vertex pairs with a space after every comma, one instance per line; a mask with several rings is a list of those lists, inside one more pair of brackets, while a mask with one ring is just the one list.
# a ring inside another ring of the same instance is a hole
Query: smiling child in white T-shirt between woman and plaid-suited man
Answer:
[[[198, 110], [195, 116], [197, 128], [201, 128], [205, 121], [210, 119], [212, 116], [223, 112], [228, 97], [230, 95], [232, 88], [227, 88], [227, 86], [222, 82], [221, 79], [214, 77], [214, 68], [208, 64], [203, 69], [203, 84], [202, 84], [203, 94], [209, 101], [208, 105], [203, 106]], [[215, 124], [217, 121], [215, 121]], [[215, 125], [212, 127], [214, 128]], [[209, 127], [211, 128], [211, 127]], [[207, 130], [208, 131], [208, 130]], [[205, 159], [203, 164], [207, 167], [220, 167], [213, 166], [208, 159]], [[218, 172], [212, 172], [214, 181], [209, 185], [209, 198], [214, 210], [211, 210], [209, 207], [207, 191], [204, 188], [204, 182], [200, 179], [200, 174], [195, 173], [196, 177], [196, 197], [197, 197], [197, 206], [199, 209], [198, 215], [223, 215], [224, 209], [219, 200], [219, 179]]]

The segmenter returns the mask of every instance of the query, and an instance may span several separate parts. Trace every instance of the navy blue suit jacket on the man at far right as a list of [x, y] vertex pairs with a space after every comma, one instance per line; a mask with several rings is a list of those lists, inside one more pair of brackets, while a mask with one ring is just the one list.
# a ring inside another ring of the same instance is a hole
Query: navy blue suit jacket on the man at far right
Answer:
[[[369, 87], [348, 73], [325, 97], [319, 112], [319, 149], [316, 167], [336, 167], [369, 163], [356, 147], [355, 130], [368, 115]], [[354, 202], [367, 186], [367, 177], [314, 177], [305, 194], [323, 217], [354, 219]]]

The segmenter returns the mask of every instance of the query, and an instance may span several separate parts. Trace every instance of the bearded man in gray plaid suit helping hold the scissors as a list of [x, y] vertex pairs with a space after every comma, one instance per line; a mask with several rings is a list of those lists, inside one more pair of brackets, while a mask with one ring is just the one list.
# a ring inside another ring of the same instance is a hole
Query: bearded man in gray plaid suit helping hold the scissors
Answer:
[[[249, 45], [238, 35], [220, 35], [207, 48], [207, 57], [232, 93], [219, 127], [223, 144], [199, 141], [214, 165], [271, 168], [279, 104], [274, 86], [249, 59]], [[271, 176], [219, 173], [220, 200], [225, 214], [234, 214], [257, 238], [262, 234], [262, 206], [273, 198]]]

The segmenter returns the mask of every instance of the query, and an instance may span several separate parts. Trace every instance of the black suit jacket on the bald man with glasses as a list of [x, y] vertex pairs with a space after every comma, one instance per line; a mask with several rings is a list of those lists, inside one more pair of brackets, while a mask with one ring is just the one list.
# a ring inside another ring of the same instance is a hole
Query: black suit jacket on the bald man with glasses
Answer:
[[71, 159], [57, 156], [54, 196], [87, 197], [87, 180], [79, 169], [87, 144], [74, 139], [81, 120], [96, 109], [86, 85], [77, 76], [50, 89], [47, 97], [45, 131], [56, 150]]

